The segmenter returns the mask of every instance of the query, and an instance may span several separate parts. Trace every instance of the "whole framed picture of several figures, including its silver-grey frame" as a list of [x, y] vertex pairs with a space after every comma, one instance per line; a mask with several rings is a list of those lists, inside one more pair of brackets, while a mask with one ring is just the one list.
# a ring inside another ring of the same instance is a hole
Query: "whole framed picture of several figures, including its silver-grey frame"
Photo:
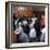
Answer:
[[7, 47], [48, 46], [48, 3], [7, 2]]

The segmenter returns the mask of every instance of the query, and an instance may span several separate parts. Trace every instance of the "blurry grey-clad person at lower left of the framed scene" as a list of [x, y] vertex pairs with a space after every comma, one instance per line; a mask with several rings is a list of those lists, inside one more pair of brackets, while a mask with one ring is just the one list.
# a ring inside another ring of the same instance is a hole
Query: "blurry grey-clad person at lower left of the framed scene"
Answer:
[[17, 35], [17, 42], [29, 42], [28, 35], [26, 34], [27, 29], [25, 29], [27, 21], [26, 20], [22, 20], [22, 21], [23, 22], [21, 21], [18, 22], [18, 27], [14, 32]]

